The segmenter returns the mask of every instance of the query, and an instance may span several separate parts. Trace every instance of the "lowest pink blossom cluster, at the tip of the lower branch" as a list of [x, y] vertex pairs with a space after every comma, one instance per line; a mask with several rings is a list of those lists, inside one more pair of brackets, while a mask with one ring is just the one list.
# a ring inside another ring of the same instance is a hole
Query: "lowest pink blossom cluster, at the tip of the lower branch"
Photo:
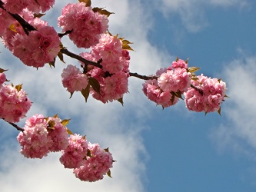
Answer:
[[74, 174], [80, 180], [94, 182], [103, 179], [113, 167], [113, 158], [111, 153], [100, 148], [98, 144], [88, 143], [88, 150], [91, 151], [90, 157], [87, 156], [82, 161], [80, 167], [74, 169]]

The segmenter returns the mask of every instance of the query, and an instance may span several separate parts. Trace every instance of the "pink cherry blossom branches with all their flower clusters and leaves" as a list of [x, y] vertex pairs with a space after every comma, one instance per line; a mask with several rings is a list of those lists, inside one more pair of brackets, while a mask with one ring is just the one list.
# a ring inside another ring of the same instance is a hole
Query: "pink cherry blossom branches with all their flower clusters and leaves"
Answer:
[[[128, 78], [143, 82], [145, 96], [168, 108], [184, 100], [190, 111], [217, 111], [227, 97], [224, 81], [197, 75], [197, 67], [188, 67], [188, 60], [177, 58], [168, 68], [161, 68], [153, 75], [141, 75], [129, 70], [131, 42], [108, 31], [105, 8], [92, 8], [90, 0], [79, 0], [62, 8], [58, 26], [62, 32], [42, 20], [41, 16], [52, 8], [54, 0], [2, 0], [0, 1], [0, 36], [5, 48], [19, 58], [24, 65], [33, 68], [55, 67], [55, 61], [64, 62], [63, 55], [75, 58], [80, 65], [67, 65], [60, 75], [63, 87], [72, 95], [81, 92], [85, 101], [92, 98], [103, 104], [118, 101], [128, 93]], [[86, 51], [75, 54], [65, 48], [62, 37], [68, 36], [78, 47]], [[56, 114], [44, 117], [35, 114], [18, 127], [32, 106], [22, 84], [8, 84], [7, 69], [0, 68], [0, 118], [19, 132], [17, 140], [21, 153], [28, 158], [42, 158], [49, 152], [62, 151], [60, 162], [73, 169], [75, 177], [85, 181], [101, 180], [105, 174], [111, 177], [113, 157], [99, 144], [91, 144], [85, 136], [73, 134]], [[53, 69], [54, 70], [54, 69]], [[135, 93], [132, 93], [135, 94]], [[70, 98], [71, 98], [70, 97]]]

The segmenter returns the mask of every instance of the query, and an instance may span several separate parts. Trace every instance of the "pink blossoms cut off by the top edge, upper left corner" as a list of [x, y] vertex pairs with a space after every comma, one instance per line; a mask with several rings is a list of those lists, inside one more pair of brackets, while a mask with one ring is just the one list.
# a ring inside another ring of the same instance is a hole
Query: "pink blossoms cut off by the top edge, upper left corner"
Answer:
[[39, 13], [46, 12], [55, 4], [55, 0], [2, 0], [6, 11], [19, 14], [23, 9]]

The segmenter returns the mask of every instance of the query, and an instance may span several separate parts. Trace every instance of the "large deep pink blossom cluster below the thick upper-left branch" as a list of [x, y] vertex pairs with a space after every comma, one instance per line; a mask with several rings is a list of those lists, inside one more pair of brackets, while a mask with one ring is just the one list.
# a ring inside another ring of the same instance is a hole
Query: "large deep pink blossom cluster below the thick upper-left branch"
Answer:
[[45, 63], [54, 61], [60, 51], [60, 39], [55, 29], [39, 18], [35, 18], [32, 25], [38, 31], [30, 31], [28, 35], [15, 34], [11, 51], [25, 65], [40, 68]]

